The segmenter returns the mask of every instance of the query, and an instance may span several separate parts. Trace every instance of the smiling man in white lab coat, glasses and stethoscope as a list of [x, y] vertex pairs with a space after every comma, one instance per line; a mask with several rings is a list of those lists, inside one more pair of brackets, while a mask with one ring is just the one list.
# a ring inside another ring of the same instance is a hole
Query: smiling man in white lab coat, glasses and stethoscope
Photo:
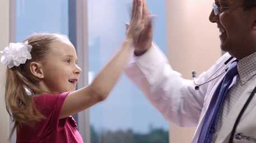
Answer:
[[[181, 127], [197, 126], [192, 142], [256, 142], [256, 97], [252, 94], [256, 87], [256, 1], [215, 0], [209, 20], [220, 29], [220, 47], [227, 53], [202, 73], [196, 83], [219, 77], [201, 85], [198, 90], [193, 80], [183, 79], [175, 72], [162, 51], [152, 44], [153, 29], [145, 0], [143, 3], [143, 20], [138, 26], [143, 25], [144, 30], [140, 37], [136, 37], [134, 56], [125, 66], [128, 77], [165, 120]], [[134, 5], [132, 13], [135, 12]], [[217, 117], [212, 120], [216, 125], [206, 126], [205, 122], [211, 121], [207, 115], [212, 108], [209, 104], [215, 106], [220, 98], [217, 96], [214, 101], [215, 90], [235, 60], [239, 60], [238, 74], [227, 87]], [[248, 102], [249, 97], [252, 99]], [[213, 130], [205, 130], [210, 127]]]

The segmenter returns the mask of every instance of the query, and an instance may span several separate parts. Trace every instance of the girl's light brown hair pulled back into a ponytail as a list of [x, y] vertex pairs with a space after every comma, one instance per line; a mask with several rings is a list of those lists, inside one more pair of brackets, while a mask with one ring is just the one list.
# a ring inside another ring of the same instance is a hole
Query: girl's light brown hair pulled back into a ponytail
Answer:
[[32, 59], [26, 60], [26, 63], [20, 66], [13, 66], [11, 69], [7, 67], [6, 70], [6, 109], [11, 116], [11, 120], [15, 122], [10, 137], [16, 127], [18, 131], [19, 124], [33, 126], [36, 122], [45, 118], [37, 110], [33, 97], [46, 92], [39, 86], [41, 79], [36, 78], [30, 72], [30, 63], [35, 61], [44, 65], [48, 61], [51, 43], [69, 39], [67, 36], [59, 34], [35, 34], [27, 37], [22, 42], [27, 40], [29, 45], [32, 46], [30, 52]]

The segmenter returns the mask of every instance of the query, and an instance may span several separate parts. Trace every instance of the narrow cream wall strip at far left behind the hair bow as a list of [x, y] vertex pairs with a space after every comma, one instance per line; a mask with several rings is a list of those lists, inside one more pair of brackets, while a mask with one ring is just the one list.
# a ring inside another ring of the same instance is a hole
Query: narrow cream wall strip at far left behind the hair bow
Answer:
[[[0, 51], [8, 46], [9, 37], [9, 1], [1, 0], [0, 2]], [[2, 56], [2, 54], [0, 54]], [[9, 116], [6, 111], [6, 104], [4, 102], [4, 75], [6, 73], [6, 66], [0, 63], [0, 142], [8, 142], [9, 136]]]

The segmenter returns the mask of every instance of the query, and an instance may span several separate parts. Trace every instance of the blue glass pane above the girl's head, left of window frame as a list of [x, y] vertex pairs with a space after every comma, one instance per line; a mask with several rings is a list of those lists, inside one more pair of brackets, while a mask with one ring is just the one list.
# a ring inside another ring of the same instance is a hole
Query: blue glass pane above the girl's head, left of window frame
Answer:
[[69, 34], [68, 0], [16, 0], [16, 41], [35, 33]]

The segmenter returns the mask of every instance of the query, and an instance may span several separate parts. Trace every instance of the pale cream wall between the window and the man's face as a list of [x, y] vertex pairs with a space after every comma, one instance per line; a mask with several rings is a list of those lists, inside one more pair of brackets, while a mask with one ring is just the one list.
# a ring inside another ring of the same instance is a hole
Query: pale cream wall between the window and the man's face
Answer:
[[[167, 55], [174, 70], [192, 79], [206, 71], [221, 56], [219, 29], [208, 16], [212, 0], [165, 0]], [[170, 123], [170, 143], [191, 142], [195, 127], [181, 128]]]

